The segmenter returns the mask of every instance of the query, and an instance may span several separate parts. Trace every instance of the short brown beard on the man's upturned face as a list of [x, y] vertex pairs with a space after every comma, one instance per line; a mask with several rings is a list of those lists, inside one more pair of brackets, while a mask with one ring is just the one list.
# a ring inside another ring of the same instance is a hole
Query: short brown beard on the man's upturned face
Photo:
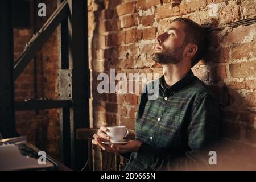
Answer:
[[176, 47], [175, 49], [163, 47], [162, 52], [155, 52], [152, 55], [152, 60], [160, 64], [177, 64], [182, 60], [182, 53], [186, 43], [184, 42], [181, 46]]

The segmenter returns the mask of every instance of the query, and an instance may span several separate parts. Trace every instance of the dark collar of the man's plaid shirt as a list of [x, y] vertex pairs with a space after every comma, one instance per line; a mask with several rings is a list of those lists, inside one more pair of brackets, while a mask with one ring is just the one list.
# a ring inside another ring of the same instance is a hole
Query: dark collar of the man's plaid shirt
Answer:
[[[183, 78], [181, 78], [181, 80], [177, 81], [174, 85], [169, 86], [167, 89], [170, 90], [170, 92], [178, 92], [180, 89], [187, 86], [191, 82], [193, 77], [194, 77], [194, 74], [192, 70], [189, 69], [187, 74]], [[166, 81], [164, 80], [164, 75], [162, 75], [160, 77], [160, 82], [159, 82], [159, 88], [162, 88], [162, 90], [164, 90], [165, 82]]]

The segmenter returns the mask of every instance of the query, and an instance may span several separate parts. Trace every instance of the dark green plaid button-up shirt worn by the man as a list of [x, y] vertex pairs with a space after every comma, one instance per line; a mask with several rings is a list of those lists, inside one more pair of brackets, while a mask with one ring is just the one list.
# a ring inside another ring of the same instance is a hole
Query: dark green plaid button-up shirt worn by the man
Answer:
[[164, 76], [158, 83], [152, 82], [159, 89], [156, 100], [148, 99], [148, 85], [141, 94], [135, 139], [142, 145], [131, 154], [125, 170], [171, 169], [174, 163], [192, 160], [190, 154], [219, 137], [218, 100], [191, 70], [166, 89]]

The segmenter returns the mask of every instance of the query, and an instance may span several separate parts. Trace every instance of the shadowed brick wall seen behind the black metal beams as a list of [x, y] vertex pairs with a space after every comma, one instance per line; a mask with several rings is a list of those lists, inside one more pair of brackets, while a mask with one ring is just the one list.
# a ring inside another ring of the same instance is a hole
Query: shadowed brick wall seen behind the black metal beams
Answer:
[[[36, 24], [32, 24], [30, 28], [14, 29], [15, 60], [18, 59], [26, 43], [31, 39], [34, 30], [33, 26], [39, 30], [57, 7], [57, 1], [45, 0], [40, 2], [46, 3], [47, 16], [42, 18], [36, 16]], [[39, 2], [36, 3], [38, 4]], [[32, 60], [15, 81], [15, 100], [57, 99], [58, 59], [57, 31], [55, 31], [36, 55], [36, 92], [34, 89], [35, 68], [34, 60]], [[27, 135], [28, 142], [46, 151], [53, 158], [60, 159], [59, 109], [15, 111], [15, 117], [16, 130], [20, 135]]]

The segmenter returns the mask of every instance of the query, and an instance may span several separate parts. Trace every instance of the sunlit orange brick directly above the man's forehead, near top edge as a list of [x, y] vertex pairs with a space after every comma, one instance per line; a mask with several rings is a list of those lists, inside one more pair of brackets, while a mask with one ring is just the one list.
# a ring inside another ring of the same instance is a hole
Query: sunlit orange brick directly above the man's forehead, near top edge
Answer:
[[178, 16], [180, 9], [179, 6], [172, 7], [172, 4], [166, 4], [163, 6], [159, 6], [156, 9], [157, 19], [167, 18], [171, 16]]

